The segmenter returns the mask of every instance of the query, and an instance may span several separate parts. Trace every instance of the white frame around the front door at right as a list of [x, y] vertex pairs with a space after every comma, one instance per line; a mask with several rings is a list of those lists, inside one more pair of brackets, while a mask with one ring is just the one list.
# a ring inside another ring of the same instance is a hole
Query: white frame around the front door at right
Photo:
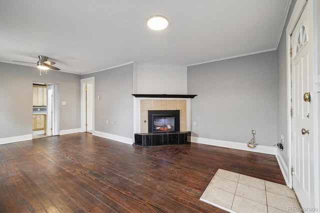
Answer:
[[[308, 0], [308, 4], [306, 6], [308, 6], [308, 18], [312, 20], [312, 23], [309, 24], [309, 27], [313, 27], [313, 33], [309, 34], [309, 39], [312, 39], [312, 43], [313, 43], [313, 48], [311, 49], [310, 55], [312, 57], [313, 55], [313, 70], [310, 72], [310, 74], [313, 74], [313, 76], [316, 74], [316, 69], [317, 69], [317, 63], [318, 61], [318, 56], [319, 54], [319, 50], [317, 47], [317, 43], [319, 42], [316, 39], [316, 35], [317, 35], [317, 18], [318, 18], [318, 5], [317, 5], [317, 0]], [[292, 124], [291, 124], [291, 115], [290, 115], [290, 109], [291, 109], [291, 58], [290, 58], [290, 54], [289, 54], [289, 49], [290, 49], [290, 42], [291, 42], [291, 33], [293, 32], [293, 29], [303, 11], [303, 8], [306, 4], [306, 0], [297, 0], [291, 17], [289, 19], [288, 25], [286, 27], [286, 76], [287, 76], [287, 137], [288, 137], [288, 149], [287, 149], [287, 162], [288, 162], [288, 168], [287, 168], [287, 177], [288, 177], [288, 185], [290, 187], [292, 187], [292, 178], [291, 178], [291, 166], [292, 166]], [[313, 82], [310, 82], [310, 84], [313, 84]], [[315, 84], [313, 84], [314, 87], [314, 91], [315, 91]], [[312, 94], [313, 97], [316, 97], [316, 94], [313, 93]], [[312, 97], [311, 97], [312, 98]], [[313, 98], [312, 103], [310, 104], [310, 108], [313, 107], [313, 119], [310, 119], [310, 127], [313, 129], [313, 143], [314, 143], [314, 200], [311, 200], [311, 202], [314, 203], [314, 207], [317, 208], [319, 210], [319, 194], [320, 194], [320, 186], [319, 186], [319, 144], [318, 144], [318, 119], [319, 119], [319, 114], [317, 112], [317, 99]], [[311, 138], [310, 138], [311, 139]]]

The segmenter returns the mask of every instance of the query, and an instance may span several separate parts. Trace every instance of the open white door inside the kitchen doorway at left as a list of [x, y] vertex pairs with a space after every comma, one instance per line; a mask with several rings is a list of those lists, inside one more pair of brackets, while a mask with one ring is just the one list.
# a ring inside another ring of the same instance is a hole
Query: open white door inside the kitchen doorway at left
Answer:
[[53, 135], [53, 121], [54, 121], [54, 85], [46, 87], [47, 104], [46, 104], [46, 135]]

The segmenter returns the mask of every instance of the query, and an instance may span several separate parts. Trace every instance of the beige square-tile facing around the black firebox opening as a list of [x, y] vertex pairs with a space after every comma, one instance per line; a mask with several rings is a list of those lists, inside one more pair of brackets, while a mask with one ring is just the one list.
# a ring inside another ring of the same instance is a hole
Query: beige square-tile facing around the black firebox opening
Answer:
[[180, 131], [186, 131], [186, 100], [142, 99], [140, 100], [140, 132], [148, 132], [148, 110], [179, 110]]

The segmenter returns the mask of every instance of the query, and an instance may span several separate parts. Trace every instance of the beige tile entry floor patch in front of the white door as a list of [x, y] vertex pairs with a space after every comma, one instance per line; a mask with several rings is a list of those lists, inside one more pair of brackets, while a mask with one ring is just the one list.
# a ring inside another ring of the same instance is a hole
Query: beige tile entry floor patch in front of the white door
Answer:
[[229, 212], [301, 212], [288, 186], [220, 168], [200, 200]]

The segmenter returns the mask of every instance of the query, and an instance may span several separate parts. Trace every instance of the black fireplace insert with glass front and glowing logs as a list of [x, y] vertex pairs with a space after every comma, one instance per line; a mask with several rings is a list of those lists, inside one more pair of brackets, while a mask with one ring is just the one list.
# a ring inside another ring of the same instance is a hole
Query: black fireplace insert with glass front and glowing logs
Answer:
[[180, 131], [180, 110], [148, 110], [148, 132]]

